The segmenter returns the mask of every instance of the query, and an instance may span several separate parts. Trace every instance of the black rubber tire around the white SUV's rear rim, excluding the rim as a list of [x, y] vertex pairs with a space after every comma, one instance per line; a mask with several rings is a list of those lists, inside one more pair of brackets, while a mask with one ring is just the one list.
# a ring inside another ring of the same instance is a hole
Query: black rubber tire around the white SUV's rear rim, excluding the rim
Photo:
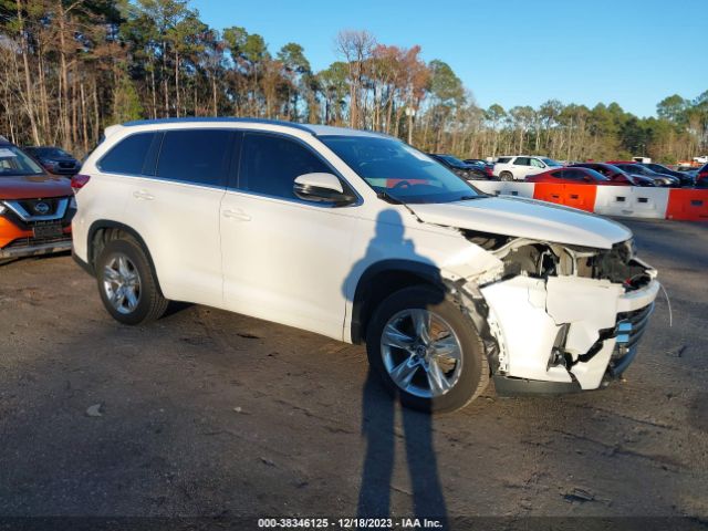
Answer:
[[[128, 313], [122, 313], [114, 308], [104, 288], [105, 267], [117, 256], [127, 257], [139, 278], [137, 305]], [[147, 323], [159, 319], [167, 310], [169, 301], [163, 296], [158, 288], [149, 259], [140, 244], [132, 238], [108, 241], [96, 259], [95, 271], [103, 305], [113, 319], [119, 323], [131, 325]]]

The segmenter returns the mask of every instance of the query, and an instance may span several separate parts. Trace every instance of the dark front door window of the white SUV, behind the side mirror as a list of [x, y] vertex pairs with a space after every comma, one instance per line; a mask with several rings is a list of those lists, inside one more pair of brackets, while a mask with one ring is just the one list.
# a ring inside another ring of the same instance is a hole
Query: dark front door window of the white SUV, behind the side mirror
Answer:
[[332, 169], [295, 140], [258, 133], [243, 137], [239, 171], [239, 188], [243, 190], [295, 199], [295, 178], [319, 171], [331, 174]]

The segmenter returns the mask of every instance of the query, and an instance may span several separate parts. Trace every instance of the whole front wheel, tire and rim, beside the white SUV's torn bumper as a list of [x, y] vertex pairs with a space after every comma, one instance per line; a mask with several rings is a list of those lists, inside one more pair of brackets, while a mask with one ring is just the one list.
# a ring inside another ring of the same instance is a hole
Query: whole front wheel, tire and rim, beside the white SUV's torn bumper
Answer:
[[414, 409], [459, 409], [489, 382], [471, 321], [431, 288], [406, 288], [385, 299], [367, 327], [366, 351], [386, 388]]

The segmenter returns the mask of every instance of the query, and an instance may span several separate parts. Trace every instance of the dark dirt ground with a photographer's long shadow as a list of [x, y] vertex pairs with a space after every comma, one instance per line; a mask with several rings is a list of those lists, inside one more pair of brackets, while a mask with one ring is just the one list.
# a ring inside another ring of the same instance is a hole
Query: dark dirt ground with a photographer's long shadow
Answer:
[[670, 296], [626, 381], [402, 412], [362, 347], [204, 306], [127, 327], [0, 267], [0, 517], [708, 519], [708, 225], [627, 221]]

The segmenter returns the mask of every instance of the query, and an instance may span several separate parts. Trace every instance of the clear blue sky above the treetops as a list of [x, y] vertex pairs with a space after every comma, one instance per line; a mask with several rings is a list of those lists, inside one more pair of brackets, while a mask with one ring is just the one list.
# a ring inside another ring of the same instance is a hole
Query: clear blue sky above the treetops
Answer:
[[656, 115], [671, 94], [708, 90], [707, 0], [191, 0], [210, 27], [259, 33], [274, 55], [298, 42], [314, 71], [340, 30], [419, 44], [447, 62], [477, 104], [617, 102]]

